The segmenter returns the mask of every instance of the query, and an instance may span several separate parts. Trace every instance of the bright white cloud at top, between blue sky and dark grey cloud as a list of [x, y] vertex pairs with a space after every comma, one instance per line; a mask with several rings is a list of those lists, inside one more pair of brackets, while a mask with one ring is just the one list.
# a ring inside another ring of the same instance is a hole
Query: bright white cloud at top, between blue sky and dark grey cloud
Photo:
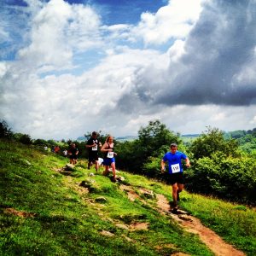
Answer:
[[201, 0], [170, 0], [156, 14], [143, 13], [132, 34], [145, 44], [165, 44], [172, 38], [185, 38], [201, 13]]

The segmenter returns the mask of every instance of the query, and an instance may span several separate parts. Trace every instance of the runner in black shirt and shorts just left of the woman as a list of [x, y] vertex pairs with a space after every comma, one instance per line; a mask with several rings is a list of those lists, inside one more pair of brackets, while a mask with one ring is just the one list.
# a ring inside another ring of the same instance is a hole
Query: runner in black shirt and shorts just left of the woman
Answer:
[[95, 164], [96, 172], [99, 169], [99, 162], [98, 162], [98, 148], [102, 147], [102, 143], [100, 143], [97, 139], [98, 135], [96, 131], [91, 133], [91, 137], [86, 143], [86, 148], [89, 150], [89, 157], [88, 157], [88, 166], [87, 168], [90, 169], [90, 166]]

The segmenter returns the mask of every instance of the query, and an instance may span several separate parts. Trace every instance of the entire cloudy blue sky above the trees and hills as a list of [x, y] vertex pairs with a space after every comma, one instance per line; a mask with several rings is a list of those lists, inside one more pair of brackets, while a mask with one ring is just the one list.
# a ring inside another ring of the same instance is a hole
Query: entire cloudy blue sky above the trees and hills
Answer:
[[255, 0], [0, 0], [0, 119], [32, 138], [256, 127]]

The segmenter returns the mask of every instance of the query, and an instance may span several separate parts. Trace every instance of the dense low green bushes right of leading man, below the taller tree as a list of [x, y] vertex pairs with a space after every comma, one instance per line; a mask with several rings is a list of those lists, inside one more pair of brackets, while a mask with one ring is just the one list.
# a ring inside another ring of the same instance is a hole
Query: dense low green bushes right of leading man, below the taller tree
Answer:
[[186, 188], [204, 195], [256, 205], [256, 164], [253, 158], [226, 157], [217, 152], [195, 161], [185, 172]]

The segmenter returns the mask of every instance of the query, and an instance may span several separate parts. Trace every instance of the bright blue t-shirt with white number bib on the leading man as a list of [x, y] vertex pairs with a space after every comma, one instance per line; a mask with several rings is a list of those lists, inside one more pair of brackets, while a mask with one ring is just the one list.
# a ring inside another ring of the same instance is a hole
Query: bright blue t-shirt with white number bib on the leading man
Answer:
[[183, 166], [181, 160], [187, 158], [186, 154], [176, 151], [175, 154], [168, 152], [164, 155], [163, 160], [168, 161], [169, 173], [183, 172]]

